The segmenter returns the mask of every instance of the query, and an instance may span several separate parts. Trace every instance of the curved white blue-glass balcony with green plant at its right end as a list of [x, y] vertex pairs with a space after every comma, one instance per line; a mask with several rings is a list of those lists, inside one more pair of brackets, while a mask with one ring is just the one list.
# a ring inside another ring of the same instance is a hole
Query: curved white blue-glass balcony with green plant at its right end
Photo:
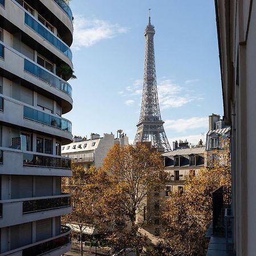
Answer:
[[0, 43], [0, 68], [9, 72], [9, 76], [20, 77], [37, 86], [38, 89], [46, 90], [54, 97], [59, 97], [63, 102], [61, 104], [63, 114], [72, 109], [72, 88], [68, 82], [2, 42]]

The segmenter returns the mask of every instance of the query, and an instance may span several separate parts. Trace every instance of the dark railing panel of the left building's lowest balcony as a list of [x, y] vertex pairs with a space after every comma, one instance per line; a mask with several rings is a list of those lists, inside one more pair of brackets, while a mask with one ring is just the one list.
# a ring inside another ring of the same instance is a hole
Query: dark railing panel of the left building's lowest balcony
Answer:
[[[68, 232], [63, 233], [63, 229], [64, 231], [68, 230]], [[48, 251], [56, 250], [61, 246], [68, 245], [68, 243], [71, 242], [71, 229], [68, 226], [61, 225], [60, 233], [63, 236], [23, 249], [22, 256], [42, 255], [46, 254]]]

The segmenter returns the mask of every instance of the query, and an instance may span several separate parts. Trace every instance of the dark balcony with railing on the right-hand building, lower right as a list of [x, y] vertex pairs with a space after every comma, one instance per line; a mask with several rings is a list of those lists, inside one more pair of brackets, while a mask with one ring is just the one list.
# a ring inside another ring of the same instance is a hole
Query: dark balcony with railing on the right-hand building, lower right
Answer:
[[233, 256], [233, 216], [231, 188], [221, 186], [212, 192], [213, 222], [207, 232], [210, 237], [207, 256]]

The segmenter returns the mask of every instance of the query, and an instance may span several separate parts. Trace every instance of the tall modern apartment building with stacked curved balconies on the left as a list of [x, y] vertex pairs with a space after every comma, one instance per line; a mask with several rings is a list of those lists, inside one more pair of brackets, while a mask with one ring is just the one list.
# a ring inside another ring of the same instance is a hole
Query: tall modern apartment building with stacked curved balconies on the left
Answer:
[[[0, 0], [1, 255], [60, 255], [71, 249], [72, 176], [60, 155], [72, 142], [72, 13], [64, 0]], [[64, 70], [69, 72], [64, 72]]]

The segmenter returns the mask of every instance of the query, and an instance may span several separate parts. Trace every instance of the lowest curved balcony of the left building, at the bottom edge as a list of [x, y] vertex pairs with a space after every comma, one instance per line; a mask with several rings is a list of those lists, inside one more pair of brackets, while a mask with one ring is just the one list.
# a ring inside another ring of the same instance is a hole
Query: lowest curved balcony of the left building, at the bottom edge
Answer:
[[[61, 255], [70, 250], [67, 247], [71, 247], [71, 228], [68, 226], [61, 225], [61, 234], [56, 237], [52, 237], [40, 242], [32, 243], [32, 245], [23, 246], [11, 251], [7, 251], [1, 255], [22, 255], [22, 256], [30, 256], [30, 255], [42, 255], [47, 254], [50, 251], [54, 255]], [[65, 247], [65, 248], [63, 248]], [[61, 250], [63, 249], [63, 250]], [[55, 250], [58, 250], [55, 252]]]

